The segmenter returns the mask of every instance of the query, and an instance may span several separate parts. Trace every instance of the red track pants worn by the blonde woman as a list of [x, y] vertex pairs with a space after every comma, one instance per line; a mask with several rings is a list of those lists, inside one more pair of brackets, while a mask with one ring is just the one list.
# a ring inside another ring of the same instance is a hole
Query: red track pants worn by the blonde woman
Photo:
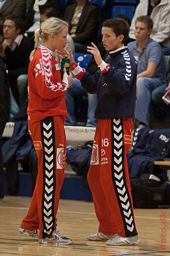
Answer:
[[40, 229], [45, 238], [57, 226], [59, 192], [64, 180], [66, 139], [64, 120], [48, 116], [28, 125], [38, 156], [38, 175], [34, 194], [21, 228]]

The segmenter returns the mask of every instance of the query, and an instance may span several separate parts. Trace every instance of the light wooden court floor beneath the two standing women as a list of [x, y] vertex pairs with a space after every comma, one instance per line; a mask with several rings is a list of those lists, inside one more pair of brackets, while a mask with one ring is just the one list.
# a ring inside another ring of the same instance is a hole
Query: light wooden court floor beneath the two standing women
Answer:
[[[134, 209], [139, 245], [109, 246], [86, 239], [98, 230], [93, 203], [60, 200], [57, 228], [74, 242], [56, 246], [39, 244], [19, 233], [30, 202], [28, 197], [5, 196], [0, 200], [0, 256], [170, 256], [170, 209]], [[159, 245], [162, 242], [164, 250]]]

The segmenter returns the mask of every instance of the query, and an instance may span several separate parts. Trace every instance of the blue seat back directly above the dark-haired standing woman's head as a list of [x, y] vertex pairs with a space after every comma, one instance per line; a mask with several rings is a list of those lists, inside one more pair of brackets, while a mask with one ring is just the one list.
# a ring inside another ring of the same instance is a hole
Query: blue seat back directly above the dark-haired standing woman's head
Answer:
[[135, 9], [136, 9], [135, 6], [115, 5], [115, 6], [112, 6], [111, 17], [114, 18], [119, 14], [125, 14], [130, 18], [130, 20], [132, 20], [132, 18], [134, 16]]

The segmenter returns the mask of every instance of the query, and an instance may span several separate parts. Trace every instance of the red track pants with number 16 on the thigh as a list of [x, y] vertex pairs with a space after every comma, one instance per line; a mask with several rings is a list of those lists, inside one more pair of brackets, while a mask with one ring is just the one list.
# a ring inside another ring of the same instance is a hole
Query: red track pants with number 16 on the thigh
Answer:
[[99, 232], [136, 236], [126, 154], [131, 145], [131, 118], [99, 119], [94, 136], [88, 184]]

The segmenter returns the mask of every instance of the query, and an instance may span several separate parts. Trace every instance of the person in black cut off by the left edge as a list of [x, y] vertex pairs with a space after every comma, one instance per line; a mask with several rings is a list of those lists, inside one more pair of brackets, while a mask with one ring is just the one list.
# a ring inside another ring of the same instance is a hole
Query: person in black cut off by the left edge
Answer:
[[3, 63], [2, 38], [0, 36], [0, 199], [3, 198], [3, 155], [2, 135], [10, 114], [9, 82]]

